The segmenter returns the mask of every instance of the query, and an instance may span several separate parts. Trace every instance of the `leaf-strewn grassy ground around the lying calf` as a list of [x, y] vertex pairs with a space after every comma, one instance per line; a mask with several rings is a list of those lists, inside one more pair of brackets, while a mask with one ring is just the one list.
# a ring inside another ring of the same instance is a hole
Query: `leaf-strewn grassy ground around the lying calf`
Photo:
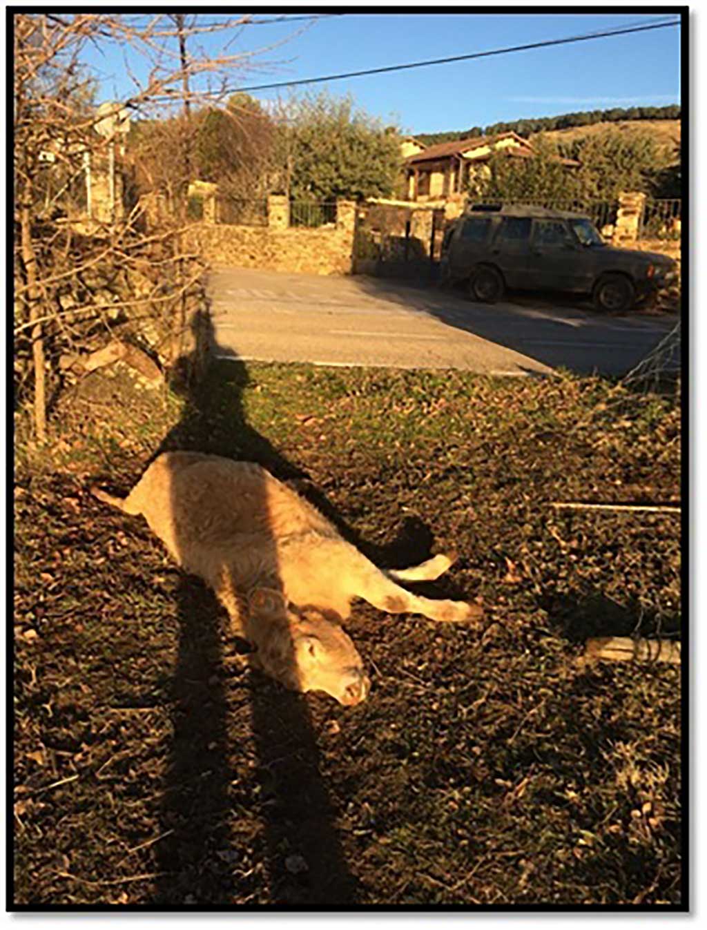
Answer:
[[[578, 662], [588, 635], [678, 634], [678, 520], [548, 506], [679, 500], [672, 398], [308, 365], [225, 364], [189, 401], [118, 387], [18, 450], [18, 902], [681, 901], [679, 670]], [[357, 606], [367, 702], [288, 695], [87, 494], [160, 447], [305, 477], [389, 565], [458, 550], [432, 591], [484, 623]]]

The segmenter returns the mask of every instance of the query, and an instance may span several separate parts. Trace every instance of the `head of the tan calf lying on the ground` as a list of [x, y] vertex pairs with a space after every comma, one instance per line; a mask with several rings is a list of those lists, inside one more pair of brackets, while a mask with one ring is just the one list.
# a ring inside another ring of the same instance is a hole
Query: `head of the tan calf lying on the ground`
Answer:
[[[325, 691], [340, 704], [360, 704], [370, 689], [361, 657], [338, 623], [314, 608], [293, 611], [279, 591], [259, 588], [249, 598], [263, 671], [297, 691]], [[260, 626], [260, 623], [257, 623]]]

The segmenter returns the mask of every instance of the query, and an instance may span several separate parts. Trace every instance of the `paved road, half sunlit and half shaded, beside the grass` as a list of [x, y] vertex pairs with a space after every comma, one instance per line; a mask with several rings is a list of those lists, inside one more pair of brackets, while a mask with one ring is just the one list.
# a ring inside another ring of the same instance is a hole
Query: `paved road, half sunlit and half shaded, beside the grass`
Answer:
[[489, 306], [369, 278], [225, 269], [209, 294], [219, 357], [321, 365], [464, 368], [483, 374], [630, 370], [675, 318], [606, 317], [525, 295]]

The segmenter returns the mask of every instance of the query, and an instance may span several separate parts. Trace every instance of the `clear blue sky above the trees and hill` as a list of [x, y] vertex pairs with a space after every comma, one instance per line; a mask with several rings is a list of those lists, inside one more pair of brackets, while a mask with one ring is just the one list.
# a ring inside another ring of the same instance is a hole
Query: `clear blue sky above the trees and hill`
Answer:
[[[293, 16], [305, 12], [300, 7]], [[257, 17], [273, 15], [262, 11]], [[222, 17], [205, 13], [202, 21]], [[233, 38], [229, 51], [255, 53], [250, 60], [257, 70], [233, 73], [233, 87], [463, 55], [659, 18], [655, 9], [644, 14], [351, 13], [313, 22], [250, 25]], [[467, 129], [574, 110], [664, 106], [680, 100], [679, 36], [679, 28], [672, 27], [337, 80], [312, 89], [351, 93], [368, 113], [397, 122], [406, 132]], [[213, 53], [222, 43], [221, 36], [208, 35], [199, 42]], [[101, 54], [88, 49], [86, 59], [99, 73], [100, 100], [130, 93], [126, 66], [143, 73], [140, 61], [125, 47], [103, 46]], [[253, 96], [274, 100], [278, 94], [287, 98], [287, 93], [260, 91]]]

